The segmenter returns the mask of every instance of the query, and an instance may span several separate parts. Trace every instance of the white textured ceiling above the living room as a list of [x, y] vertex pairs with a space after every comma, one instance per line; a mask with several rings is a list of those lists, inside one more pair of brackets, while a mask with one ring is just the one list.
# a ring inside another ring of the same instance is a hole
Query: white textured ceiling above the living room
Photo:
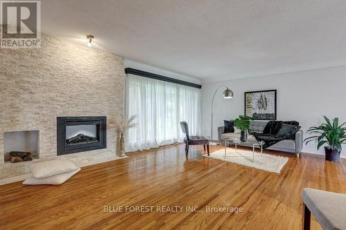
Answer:
[[346, 65], [345, 0], [44, 0], [42, 32], [202, 82]]

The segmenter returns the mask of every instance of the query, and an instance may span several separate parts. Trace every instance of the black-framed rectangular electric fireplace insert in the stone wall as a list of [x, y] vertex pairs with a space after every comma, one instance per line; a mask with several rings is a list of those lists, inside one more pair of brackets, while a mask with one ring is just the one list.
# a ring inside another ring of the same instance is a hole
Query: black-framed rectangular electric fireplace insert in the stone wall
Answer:
[[107, 148], [107, 117], [57, 117], [57, 155]]

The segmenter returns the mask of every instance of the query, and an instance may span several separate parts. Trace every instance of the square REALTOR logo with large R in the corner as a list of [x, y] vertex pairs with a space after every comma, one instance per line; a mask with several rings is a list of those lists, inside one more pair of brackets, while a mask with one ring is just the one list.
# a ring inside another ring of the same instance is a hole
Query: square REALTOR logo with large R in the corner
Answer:
[[41, 1], [1, 1], [1, 48], [39, 48]]

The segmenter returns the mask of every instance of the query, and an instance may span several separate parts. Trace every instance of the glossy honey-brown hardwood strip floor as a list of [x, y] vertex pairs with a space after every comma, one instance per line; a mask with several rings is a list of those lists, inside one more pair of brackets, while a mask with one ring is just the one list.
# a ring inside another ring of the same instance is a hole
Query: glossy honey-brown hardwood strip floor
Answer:
[[[202, 153], [203, 146], [192, 146], [185, 157], [179, 144], [86, 166], [60, 186], [0, 186], [0, 229], [301, 229], [302, 188], [346, 193], [346, 160], [337, 164], [318, 155], [302, 154], [299, 160], [293, 155], [276, 174]], [[145, 205], [154, 211], [104, 212]], [[162, 206], [183, 211], [155, 211]], [[188, 206], [199, 208], [185, 211]], [[243, 211], [207, 212], [206, 207]], [[320, 229], [316, 220], [311, 229]]]

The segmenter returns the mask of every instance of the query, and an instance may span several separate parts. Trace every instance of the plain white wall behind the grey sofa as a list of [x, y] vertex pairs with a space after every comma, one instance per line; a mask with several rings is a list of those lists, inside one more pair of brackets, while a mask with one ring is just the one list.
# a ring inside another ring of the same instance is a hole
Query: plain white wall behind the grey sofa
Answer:
[[[244, 92], [277, 89], [277, 119], [300, 122], [304, 137], [307, 129], [323, 121], [322, 115], [339, 117], [346, 122], [346, 66], [308, 70], [248, 79], [235, 79], [225, 82], [202, 84], [201, 131], [210, 135], [210, 113], [212, 95], [219, 86], [228, 86], [233, 90], [233, 99], [223, 99], [220, 89], [215, 96], [213, 137], [217, 139], [217, 127], [224, 125], [224, 119], [234, 119], [244, 115]], [[343, 146], [346, 157], [346, 146]], [[322, 148], [316, 149], [316, 143], [304, 144], [305, 153], [324, 154]]]

